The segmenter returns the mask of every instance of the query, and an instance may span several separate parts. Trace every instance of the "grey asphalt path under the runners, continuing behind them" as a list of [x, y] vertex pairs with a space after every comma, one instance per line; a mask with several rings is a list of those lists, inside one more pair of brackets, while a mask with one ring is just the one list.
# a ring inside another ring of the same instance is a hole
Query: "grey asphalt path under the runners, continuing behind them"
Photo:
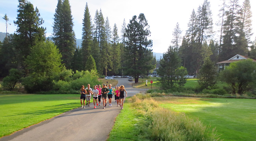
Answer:
[[[128, 97], [146, 91], [145, 89], [132, 88], [134, 82], [128, 81], [128, 78], [116, 79], [118, 81], [117, 86], [124, 85]], [[106, 141], [114, 125], [115, 117], [121, 111], [121, 107], [117, 106], [114, 99], [113, 95], [112, 107], [109, 107], [109, 103], [107, 103], [105, 109], [102, 109], [102, 105], [96, 106], [97, 108], [94, 109], [93, 103], [91, 103], [90, 107], [70, 110], [2, 137], [0, 141]], [[78, 103], [80, 103], [79, 97]], [[103, 103], [101, 102], [101, 104]]]

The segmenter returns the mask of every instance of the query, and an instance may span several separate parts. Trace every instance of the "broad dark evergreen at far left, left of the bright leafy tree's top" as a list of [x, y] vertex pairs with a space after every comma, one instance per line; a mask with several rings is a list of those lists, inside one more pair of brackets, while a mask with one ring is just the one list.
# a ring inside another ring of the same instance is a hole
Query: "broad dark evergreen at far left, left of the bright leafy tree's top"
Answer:
[[17, 20], [14, 21], [14, 24], [17, 25], [14, 36], [15, 53], [18, 67], [24, 68], [24, 60], [30, 55], [32, 46], [45, 40], [46, 29], [41, 26], [44, 21], [40, 18], [39, 10], [37, 7], [34, 9], [30, 2], [19, 0], [17, 12]]

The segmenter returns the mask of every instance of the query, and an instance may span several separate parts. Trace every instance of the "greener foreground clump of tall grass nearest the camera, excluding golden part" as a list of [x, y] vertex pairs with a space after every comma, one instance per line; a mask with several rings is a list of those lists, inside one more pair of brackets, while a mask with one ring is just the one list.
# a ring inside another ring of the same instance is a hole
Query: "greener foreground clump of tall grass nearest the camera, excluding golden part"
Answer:
[[148, 126], [154, 141], [218, 141], [215, 129], [209, 129], [200, 121], [189, 119], [184, 113], [177, 114], [165, 108], [152, 113]]

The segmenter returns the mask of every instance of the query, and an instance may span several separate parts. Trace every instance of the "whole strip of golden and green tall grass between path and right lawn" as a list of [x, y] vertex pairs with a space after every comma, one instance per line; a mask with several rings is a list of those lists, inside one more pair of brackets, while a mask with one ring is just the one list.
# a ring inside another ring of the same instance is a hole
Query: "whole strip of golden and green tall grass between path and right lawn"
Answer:
[[141, 126], [144, 135], [153, 141], [218, 141], [215, 129], [204, 126], [198, 119], [189, 119], [184, 113], [159, 107], [150, 94], [136, 94], [132, 107], [147, 117]]

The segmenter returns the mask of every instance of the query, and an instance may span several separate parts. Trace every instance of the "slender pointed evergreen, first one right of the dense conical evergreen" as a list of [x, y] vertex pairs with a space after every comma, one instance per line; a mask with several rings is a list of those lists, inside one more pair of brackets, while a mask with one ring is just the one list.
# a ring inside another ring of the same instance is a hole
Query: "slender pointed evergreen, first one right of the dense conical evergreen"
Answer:
[[[92, 46], [92, 26], [91, 15], [89, 13], [88, 4], [85, 5], [85, 11], [83, 14], [83, 29], [82, 29], [82, 63], [85, 64], [88, 57], [93, 53], [91, 51]], [[86, 68], [85, 68], [86, 69]]]

